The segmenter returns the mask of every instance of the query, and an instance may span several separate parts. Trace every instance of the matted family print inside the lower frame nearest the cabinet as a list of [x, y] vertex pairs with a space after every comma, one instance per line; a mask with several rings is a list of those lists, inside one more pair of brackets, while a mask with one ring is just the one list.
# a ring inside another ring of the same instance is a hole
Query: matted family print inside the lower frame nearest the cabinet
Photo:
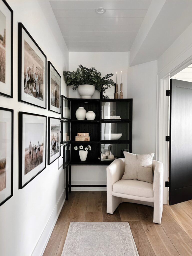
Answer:
[[57, 154], [60, 150], [60, 125], [51, 124], [50, 156]]

